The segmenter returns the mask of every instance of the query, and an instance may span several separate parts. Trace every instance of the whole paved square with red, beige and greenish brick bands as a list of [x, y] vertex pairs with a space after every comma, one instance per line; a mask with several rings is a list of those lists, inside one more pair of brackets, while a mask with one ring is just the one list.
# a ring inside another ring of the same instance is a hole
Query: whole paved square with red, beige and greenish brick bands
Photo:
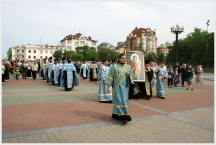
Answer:
[[[212, 75], [206, 74], [209, 79]], [[44, 80], [2, 85], [3, 143], [213, 143], [214, 81], [166, 88], [166, 99], [132, 99], [132, 121], [111, 118], [112, 104], [97, 100], [98, 82], [80, 79], [65, 92]]]

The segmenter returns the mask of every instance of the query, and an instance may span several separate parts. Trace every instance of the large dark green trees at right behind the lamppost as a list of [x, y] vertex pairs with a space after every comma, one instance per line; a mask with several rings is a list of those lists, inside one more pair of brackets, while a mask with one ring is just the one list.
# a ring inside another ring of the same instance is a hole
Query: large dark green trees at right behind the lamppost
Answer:
[[[175, 49], [174, 43], [173, 49], [166, 57], [168, 60], [170, 56], [171, 64], [175, 64]], [[178, 62], [180, 64], [189, 62], [193, 66], [198, 64], [214, 66], [214, 33], [195, 28], [186, 38], [178, 40]]]

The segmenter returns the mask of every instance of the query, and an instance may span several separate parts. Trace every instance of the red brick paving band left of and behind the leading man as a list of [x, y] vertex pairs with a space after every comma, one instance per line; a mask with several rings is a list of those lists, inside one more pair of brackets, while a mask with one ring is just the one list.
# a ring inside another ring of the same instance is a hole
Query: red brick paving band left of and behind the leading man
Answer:
[[[3, 133], [111, 121], [113, 104], [94, 100], [4, 105]], [[129, 104], [132, 118], [157, 112]]]

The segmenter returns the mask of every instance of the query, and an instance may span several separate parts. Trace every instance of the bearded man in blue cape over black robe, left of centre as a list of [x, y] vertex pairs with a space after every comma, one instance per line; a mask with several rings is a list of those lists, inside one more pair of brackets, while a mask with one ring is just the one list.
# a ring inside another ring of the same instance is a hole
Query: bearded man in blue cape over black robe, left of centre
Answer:
[[65, 91], [71, 91], [74, 86], [79, 85], [79, 80], [74, 64], [71, 62], [71, 58], [67, 58], [67, 62], [62, 67], [61, 86], [65, 88]]

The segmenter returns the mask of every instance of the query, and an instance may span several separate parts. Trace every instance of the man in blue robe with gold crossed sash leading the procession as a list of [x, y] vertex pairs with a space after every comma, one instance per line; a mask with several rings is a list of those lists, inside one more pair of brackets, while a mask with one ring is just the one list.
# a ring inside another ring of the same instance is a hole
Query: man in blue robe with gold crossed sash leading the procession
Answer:
[[110, 68], [105, 83], [107, 84], [107, 93], [110, 92], [110, 86], [112, 86], [112, 118], [121, 120], [123, 125], [132, 120], [128, 112], [128, 92], [130, 83], [133, 83], [132, 78], [133, 71], [126, 64], [125, 54], [121, 53], [118, 57], [118, 63]]

